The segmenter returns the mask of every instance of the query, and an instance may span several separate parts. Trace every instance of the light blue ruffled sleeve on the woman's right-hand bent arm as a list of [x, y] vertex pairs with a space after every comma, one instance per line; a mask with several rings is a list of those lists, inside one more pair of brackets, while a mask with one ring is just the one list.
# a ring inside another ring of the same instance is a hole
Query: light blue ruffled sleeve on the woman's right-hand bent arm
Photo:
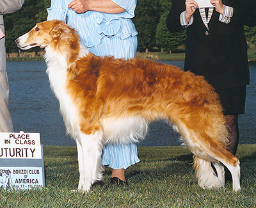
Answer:
[[136, 0], [112, 0], [114, 3], [118, 4], [118, 6], [124, 8], [126, 12], [120, 13], [119, 17], [129, 18], [134, 17], [134, 10], [136, 8], [137, 1]]

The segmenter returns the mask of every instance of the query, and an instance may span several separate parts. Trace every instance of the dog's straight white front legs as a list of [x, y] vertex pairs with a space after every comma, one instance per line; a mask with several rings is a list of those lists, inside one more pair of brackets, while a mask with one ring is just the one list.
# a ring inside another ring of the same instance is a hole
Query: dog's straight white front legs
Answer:
[[79, 190], [89, 191], [93, 182], [102, 179], [102, 147], [102, 132], [90, 135], [79, 133], [79, 138], [77, 138]]

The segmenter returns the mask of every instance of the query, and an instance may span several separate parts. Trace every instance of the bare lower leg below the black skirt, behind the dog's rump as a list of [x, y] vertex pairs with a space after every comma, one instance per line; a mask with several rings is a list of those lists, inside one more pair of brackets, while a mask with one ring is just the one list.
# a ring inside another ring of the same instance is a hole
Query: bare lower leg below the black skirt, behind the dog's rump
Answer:
[[238, 115], [225, 115], [225, 118], [230, 134], [228, 151], [235, 155], [239, 141]]

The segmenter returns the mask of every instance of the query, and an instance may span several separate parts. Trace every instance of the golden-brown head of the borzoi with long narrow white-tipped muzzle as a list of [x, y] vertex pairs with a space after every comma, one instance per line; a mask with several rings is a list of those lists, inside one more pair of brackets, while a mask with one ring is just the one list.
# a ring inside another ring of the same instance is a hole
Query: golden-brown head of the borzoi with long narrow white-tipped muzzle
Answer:
[[70, 34], [77, 36], [74, 29], [69, 28], [64, 22], [50, 20], [36, 24], [31, 31], [17, 38], [15, 44], [23, 50], [36, 46], [44, 48], [51, 44], [58, 44], [58, 40], [65, 36], [70, 38]]

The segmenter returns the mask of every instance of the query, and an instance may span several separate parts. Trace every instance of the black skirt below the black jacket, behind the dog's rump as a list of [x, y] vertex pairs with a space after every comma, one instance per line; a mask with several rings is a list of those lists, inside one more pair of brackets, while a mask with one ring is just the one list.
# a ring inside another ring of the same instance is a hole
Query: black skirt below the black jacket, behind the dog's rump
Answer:
[[239, 115], [244, 113], [246, 85], [224, 90], [216, 90], [224, 109], [224, 115]]

